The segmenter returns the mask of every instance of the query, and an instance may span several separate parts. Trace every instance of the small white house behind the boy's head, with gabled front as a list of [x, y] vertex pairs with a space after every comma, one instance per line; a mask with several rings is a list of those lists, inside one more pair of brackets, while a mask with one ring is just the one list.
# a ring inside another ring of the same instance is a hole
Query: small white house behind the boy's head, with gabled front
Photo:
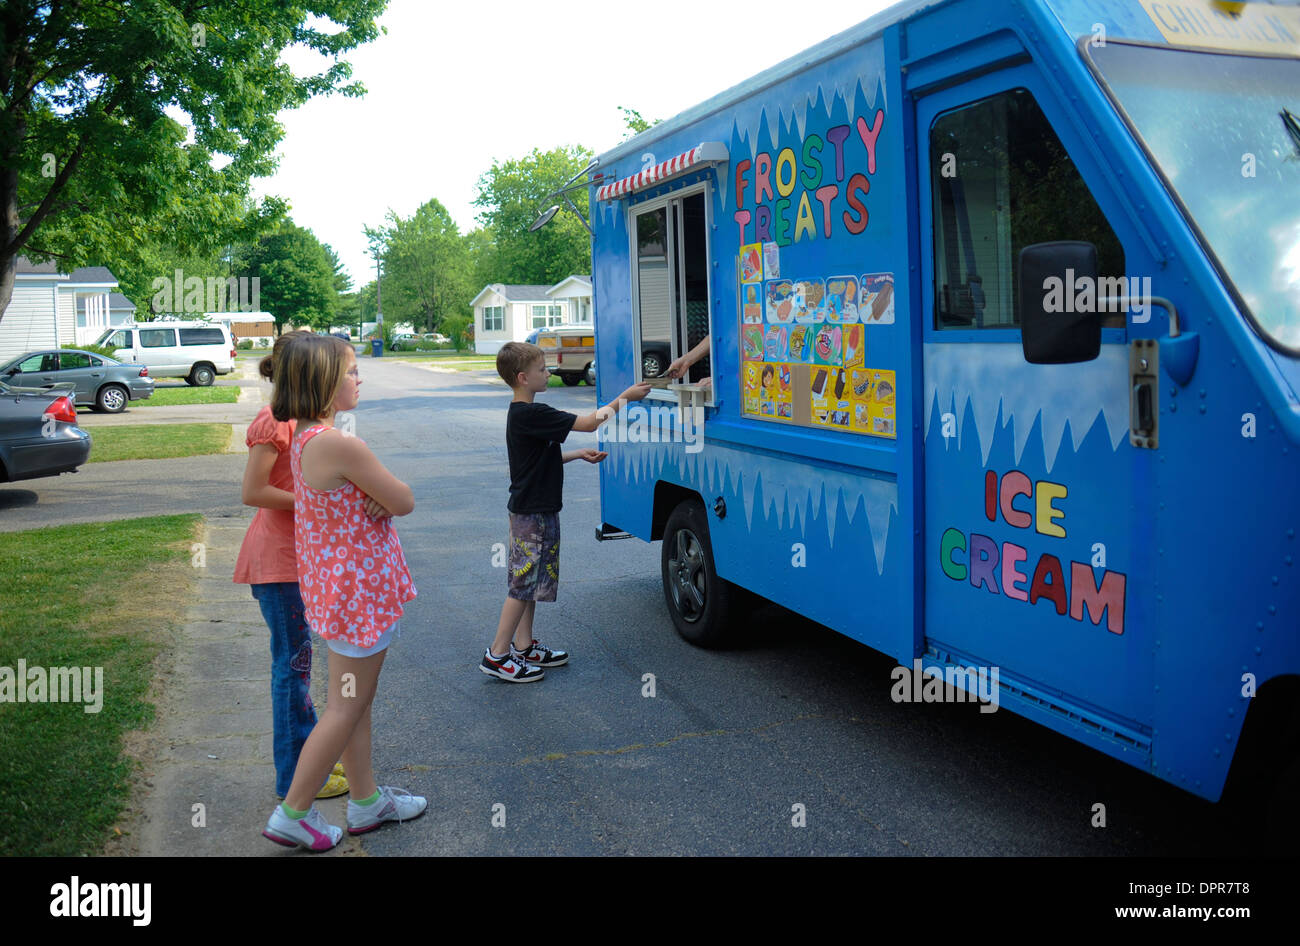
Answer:
[[554, 286], [494, 282], [469, 303], [474, 309], [474, 351], [495, 355], [506, 342], [524, 342], [534, 329], [592, 322], [592, 278], [571, 275]]

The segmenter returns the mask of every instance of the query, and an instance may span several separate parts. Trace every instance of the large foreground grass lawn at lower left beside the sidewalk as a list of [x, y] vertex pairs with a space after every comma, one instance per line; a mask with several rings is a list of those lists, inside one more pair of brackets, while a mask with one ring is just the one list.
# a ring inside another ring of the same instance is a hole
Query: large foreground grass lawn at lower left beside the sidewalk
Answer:
[[103, 668], [99, 712], [86, 712], [96, 700], [84, 693], [81, 703], [0, 702], [5, 855], [103, 850], [129, 795], [122, 735], [153, 720], [152, 661], [194, 572], [198, 520], [0, 533], [0, 668]]

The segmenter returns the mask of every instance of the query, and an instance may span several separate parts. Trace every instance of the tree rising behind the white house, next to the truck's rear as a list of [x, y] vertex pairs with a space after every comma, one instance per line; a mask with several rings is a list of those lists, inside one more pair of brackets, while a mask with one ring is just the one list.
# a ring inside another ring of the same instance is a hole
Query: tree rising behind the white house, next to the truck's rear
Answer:
[[[592, 152], [581, 146], [533, 149], [519, 160], [494, 162], [478, 178], [478, 220], [491, 231], [493, 275], [486, 282], [550, 286], [567, 275], [592, 272], [592, 235], [568, 209], [542, 229], [529, 233], [537, 214], [563, 199], [550, 198], [586, 166]], [[569, 199], [588, 216], [588, 194], [578, 188]]]

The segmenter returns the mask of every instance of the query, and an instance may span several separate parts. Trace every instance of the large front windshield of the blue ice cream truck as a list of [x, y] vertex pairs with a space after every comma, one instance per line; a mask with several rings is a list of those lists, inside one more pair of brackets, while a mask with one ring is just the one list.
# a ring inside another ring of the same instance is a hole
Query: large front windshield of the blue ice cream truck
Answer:
[[1300, 60], [1088, 52], [1264, 337], [1300, 353]]

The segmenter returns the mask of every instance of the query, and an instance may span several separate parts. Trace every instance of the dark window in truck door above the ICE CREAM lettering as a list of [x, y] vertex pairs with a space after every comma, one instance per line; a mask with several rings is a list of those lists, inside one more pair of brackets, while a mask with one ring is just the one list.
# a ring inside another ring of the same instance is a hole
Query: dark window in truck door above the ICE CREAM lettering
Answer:
[[[939, 116], [930, 168], [936, 329], [1019, 326], [1017, 266], [1034, 243], [1093, 243], [1098, 277], [1124, 275], [1114, 230], [1028, 90]], [[1123, 324], [1122, 312], [1102, 321]]]

